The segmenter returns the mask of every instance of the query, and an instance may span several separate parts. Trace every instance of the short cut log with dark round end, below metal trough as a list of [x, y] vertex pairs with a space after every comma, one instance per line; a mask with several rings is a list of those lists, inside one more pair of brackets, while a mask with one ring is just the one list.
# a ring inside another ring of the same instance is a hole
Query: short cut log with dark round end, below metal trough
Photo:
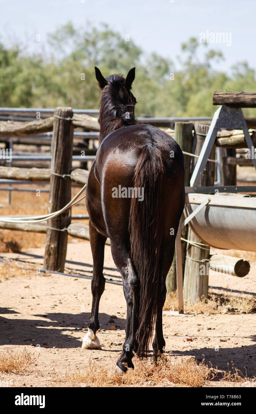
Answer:
[[215, 272], [244, 277], [250, 271], [250, 263], [247, 260], [232, 256], [212, 255], [209, 261], [209, 268]]

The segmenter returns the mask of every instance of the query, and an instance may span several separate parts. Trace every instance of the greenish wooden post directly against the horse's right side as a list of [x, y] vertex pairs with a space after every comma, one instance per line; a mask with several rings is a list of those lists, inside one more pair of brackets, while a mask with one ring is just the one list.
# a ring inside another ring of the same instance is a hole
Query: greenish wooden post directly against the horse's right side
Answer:
[[[192, 152], [193, 146], [193, 134], [192, 130], [194, 128], [193, 123], [189, 122], [175, 122], [175, 129], [174, 129], [174, 139], [181, 147], [182, 151], [185, 152]], [[190, 185], [189, 181], [191, 178], [191, 156], [184, 155], [184, 169], [185, 169], [185, 176], [184, 176], [184, 185]], [[184, 221], [184, 214], [182, 214], [181, 221]], [[187, 227], [185, 226], [181, 230], [181, 236], [183, 238], [187, 238]], [[186, 243], [181, 241], [181, 248], [182, 248], [182, 272], [184, 274], [184, 266], [185, 266], [185, 256], [186, 256]], [[174, 258], [172, 261], [172, 266], [167, 274], [166, 278], [166, 289], [167, 294], [174, 292], [177, 289], [177, 277], [176, 277], [176, 255], [174, 254]]]

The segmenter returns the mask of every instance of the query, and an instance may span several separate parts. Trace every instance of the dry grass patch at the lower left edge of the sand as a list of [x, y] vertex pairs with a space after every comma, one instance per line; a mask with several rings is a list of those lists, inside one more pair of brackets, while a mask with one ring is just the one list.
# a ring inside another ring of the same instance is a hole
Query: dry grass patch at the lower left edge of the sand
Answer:
[[31, 354], [26, 348], [23, 352], [2, 351], [0, 353], [0, 372], [24, 373], [37, 359], [38, 356]]

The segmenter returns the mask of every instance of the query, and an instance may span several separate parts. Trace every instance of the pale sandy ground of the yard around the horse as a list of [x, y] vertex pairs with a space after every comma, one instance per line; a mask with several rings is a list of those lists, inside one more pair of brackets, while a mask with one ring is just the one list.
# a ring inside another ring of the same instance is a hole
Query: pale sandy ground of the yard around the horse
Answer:
[[[32, 235], [31, 235], [32, 237]], [[2, 258], [20, 258], [33, 263], [42, 263], [43, 248], [31, 249], [27, 253], [1, 253]], [[33, 255], [38, 255], [36, 258]], [[75, 263], [69, 263], [73, 261]], [[79, 265], [80, 263], [80, 265]], [[85, 264], [86, 266], [82, 266]], [[89, 241], [73, 239], [68, 244], [66, 272], [91, 275], [92, 257]], [[40, 265], [38, 265], [40, 267]], [[110, 246], [105, 246], [105, 274], [119, 281], [119, 273], [111, 257]], [[2, 275], [1, 275], [2, 276]], [[65, 373], [82, 370], [89, 363], [115, 368], [115, 363], [124, 342], [126, 302], [122, 286], [106, 283], [100, 301], [99, 320], [101, 331], [98, 337], [102, 350], [81, 349], [82, 338], [91, 312], [91, 281], [77, 277], [43, 273], [32, 277], [22, 276], [15, 270], [0, 283], [0, 351], [12, 349], [22, 351], [24, 347], [38, 357], [37, 365], [25, 375], [0, 373], [0, 380], [13, 380], [13, 386], [56, 386], [52, 382], [53, 372]], [[234, 292], [256, 293], [256, 263], [244, 278], [219, 275], [212, 272], [209, 285], [215, 292], [232, 289]], [[108, 323], [110, 315], [116, 315], [115, 323]], [[110, 326], [114, 330], [109, 330]], [[198, 331], [200, 329], [200, 331]], [[184, 314], [163, 312], [165, 350], [173, 358], [194, 356], [205, 358], [213, 367], [227, 370], [227, 364], [241, 369], [250, 378], [256, 367], [256, 314]], [[187, 342], [187, 336], [192, 342]], [[220, 342], [220, 339], [226, 342]], [[108, 343], [110, 341], [110, 343]], [[111, 344], [112, 342], [112, 344]], [[206, 382], [207, 387], [241, 386], [223, 383], [220, 378]], [[246, 384], [242, 384], [246, 386]], [[248, 386], [248, 385], [247, 385]]]

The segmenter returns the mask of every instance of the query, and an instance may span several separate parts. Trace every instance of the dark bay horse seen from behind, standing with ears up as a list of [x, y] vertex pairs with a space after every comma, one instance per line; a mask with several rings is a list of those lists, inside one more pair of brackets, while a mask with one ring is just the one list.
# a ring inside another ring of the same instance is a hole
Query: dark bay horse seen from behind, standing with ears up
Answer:
[[131, 92], [135, 67], [126, 79], [121, 75], [104, 78], [98, 68], [95, 71], [102, 89], [99, 148], [86, 187], [93, 302], [82, 347], [100, 349], [96, 334], [105, 287], [104, 246], [109, 237], [127, 301], [126, 337], [117, 361], [117, 370], [125, 372], [133, 367], [134, 352], [139, 358], [148, 355], [154, 325], [153, 360], [165, 347], [165, 279], [184, 208], [184, 159], [170, 135], [136, 120]]

